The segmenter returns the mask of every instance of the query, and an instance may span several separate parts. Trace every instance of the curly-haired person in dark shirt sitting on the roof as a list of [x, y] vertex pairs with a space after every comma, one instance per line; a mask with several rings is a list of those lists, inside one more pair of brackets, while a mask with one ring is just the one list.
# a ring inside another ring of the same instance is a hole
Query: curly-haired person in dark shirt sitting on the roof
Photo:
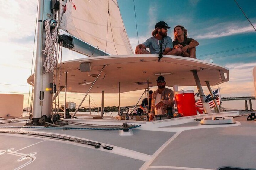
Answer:
[[187, 29], [184, 26], [177, 25], [173, 29], [174, 32], [174, 41], [172, 42], [173, 48], [181, 48], [183, 57], [196, 58], [196, 46], [199, 43], [187, 37]]

